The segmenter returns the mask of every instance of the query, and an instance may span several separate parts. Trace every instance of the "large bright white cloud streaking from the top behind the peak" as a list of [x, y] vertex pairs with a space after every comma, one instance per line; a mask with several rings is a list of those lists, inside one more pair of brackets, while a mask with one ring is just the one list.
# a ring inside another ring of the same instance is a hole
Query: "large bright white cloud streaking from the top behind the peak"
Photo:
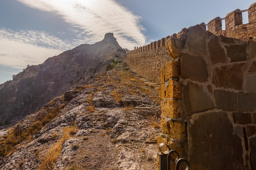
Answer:
[[[145, 45], [141, 18], [115, 0], [18, 0], [29, 7], [54, 12], [66, 22], [83, 29], [87, 43], [99, 42], [108, 32], [123, 48]], [[83, 35], [83, 36], [82, 36]]]

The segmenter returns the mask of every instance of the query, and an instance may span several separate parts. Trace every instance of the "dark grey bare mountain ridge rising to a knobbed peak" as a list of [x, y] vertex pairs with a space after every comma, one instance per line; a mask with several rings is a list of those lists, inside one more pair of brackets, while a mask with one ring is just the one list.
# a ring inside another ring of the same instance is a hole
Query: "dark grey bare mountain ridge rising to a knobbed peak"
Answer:
[[43, 64], [28, 66], [13, 80], [0, 84], [0, 129], [40, 110], [70, 87], [85, 84], [125, 55], [113, 33], [107, 33], [101, 42], [82, 44]]

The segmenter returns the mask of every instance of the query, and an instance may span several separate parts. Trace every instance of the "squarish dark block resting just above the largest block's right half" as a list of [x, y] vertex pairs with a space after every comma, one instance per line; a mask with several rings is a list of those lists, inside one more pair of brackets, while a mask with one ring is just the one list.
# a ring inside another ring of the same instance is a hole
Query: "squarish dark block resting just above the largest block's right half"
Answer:
[[237, 111], [237, 94], [231, 91], [215, 90], [214, 98], [217, 109]]

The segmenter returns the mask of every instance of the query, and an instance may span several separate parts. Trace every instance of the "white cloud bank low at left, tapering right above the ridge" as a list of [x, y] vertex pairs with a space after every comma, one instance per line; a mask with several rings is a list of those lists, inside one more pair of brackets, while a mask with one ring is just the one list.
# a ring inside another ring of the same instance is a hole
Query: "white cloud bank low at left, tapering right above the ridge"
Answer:
[[43, 63], [48, 57], [58, 55], [70, 44], [40, 31], [14, 32], [0, 29], [0, 65], [26, 68]]

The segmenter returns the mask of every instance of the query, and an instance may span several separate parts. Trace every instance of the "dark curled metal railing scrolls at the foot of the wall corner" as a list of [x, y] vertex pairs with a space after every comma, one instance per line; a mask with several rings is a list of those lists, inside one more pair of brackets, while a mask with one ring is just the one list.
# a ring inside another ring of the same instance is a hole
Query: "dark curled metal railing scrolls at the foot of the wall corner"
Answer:
[[[165, 151], [162, 151], [163, 146], [166, 146]], [[189, 161], [184, 158], [180, 158], [180, 155], [176, 150], [171, 150], [170, 147], [164, 143], [159, 144], [158, 148], [160, 150], [160, 152], [157, 153], [159, 156], [159, 170], [171, 170], [171, 161], [172, 161], [171, 156], [173, 154], [176, 154], [176, 159], [173, 160], [175, 163], [175, 170], [180, 170], [180, 164], [182, 162], [186, 163], [185, 170], [190, 169]]]

